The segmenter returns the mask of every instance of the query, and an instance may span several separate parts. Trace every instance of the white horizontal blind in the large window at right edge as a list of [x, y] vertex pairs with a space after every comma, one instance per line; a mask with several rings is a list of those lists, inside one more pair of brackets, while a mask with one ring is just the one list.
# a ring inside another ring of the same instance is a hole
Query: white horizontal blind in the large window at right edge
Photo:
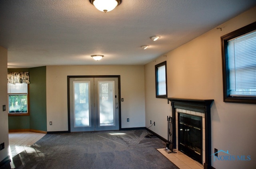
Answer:
[[230, 96], [256, 96], [256, 31], [228, 41]]

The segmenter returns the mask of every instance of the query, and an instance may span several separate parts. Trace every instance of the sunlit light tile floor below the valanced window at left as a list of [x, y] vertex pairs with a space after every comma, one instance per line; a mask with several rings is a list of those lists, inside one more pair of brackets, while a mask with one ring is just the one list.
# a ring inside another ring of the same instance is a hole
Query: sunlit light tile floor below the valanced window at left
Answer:
[[35, 132], [10, 132], [9, 133], [9, 155], [10, 159], [18, 153], [29, 148], [44, 137], [45, 134]]

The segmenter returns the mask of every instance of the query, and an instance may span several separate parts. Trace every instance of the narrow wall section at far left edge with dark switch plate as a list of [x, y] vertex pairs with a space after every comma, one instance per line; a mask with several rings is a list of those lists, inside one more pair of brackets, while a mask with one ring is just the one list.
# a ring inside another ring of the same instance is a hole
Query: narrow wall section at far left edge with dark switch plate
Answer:
[[[8, 100], [7, 100], [7, 49], [0, 46], [0, 143], [5, 148], [0, 151], [0, 162], [8, 157]], [[6, 79], [6, 80], [4, 80]], [[2, 110], [6, 105], [6, 111]]]

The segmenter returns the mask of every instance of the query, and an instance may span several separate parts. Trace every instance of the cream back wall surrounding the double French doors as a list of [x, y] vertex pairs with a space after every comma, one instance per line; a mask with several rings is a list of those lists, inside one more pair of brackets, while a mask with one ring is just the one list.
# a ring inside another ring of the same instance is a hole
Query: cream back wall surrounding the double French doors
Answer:
[[[84, 65], [46, 67], [47, 131], [68, 130], [67, 76], [120, 75], [121, 128], [145, 127], [144, 67]], [[127, 122], [130, 118], [130, 122]], [[49, 122], [52, 121], [52, 125]]]

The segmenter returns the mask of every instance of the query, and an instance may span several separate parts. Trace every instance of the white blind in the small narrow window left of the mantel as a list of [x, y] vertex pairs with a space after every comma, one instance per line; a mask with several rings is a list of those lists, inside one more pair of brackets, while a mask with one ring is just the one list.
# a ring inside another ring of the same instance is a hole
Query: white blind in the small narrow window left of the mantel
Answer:
[[158, 67], [158, 95], [166, 95], [165, 65]]

